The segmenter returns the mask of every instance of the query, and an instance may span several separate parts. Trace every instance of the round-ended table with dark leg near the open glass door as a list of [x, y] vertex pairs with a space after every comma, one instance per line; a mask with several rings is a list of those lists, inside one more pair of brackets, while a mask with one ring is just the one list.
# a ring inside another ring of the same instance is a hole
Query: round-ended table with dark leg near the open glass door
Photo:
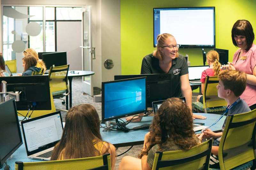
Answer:
[[[81, 70], [74, 70], [74, 71], [68, 71], [67, 78], [69, 81], [69, 108], [72, 107], [72, 79], [73, 77], [82, 77], [82, 76], [89, 76], [93, 75], [93, 71], [81, 71]], [[66, 96], [66, 102], [68, 103], [68, 97]], [[68, 104], [66, 105], [66, 110], [68, 110]]]

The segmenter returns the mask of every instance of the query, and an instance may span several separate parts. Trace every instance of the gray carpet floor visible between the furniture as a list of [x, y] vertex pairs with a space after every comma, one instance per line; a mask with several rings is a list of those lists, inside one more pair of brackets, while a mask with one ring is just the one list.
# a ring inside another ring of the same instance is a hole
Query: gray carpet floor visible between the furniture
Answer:
[[[92, 96], [89, 96], [89, 95], [83, 93], [81, 84], [82, 84], [82, 78], [81, 77], [74, 77], [73, 78], [73, 81], [72, 81], [72, 98], [73, 98], [72, 105], [76, 106], [76, 105], [79, 105], [79, 104], [89, 103], [89, 104], [93, 105], [96, 108], [96, 110], [99, 114], [99, 117], [101, 119], [101, 103], [93, 102], [93, 97]], [[195, 95], [195, 96], [192, 97], [192, 101], [195, 102], [197, 94], [193, 94], [193, 95]], [[54, 99], [54, 103], [55, 103], [56, 108], [66, 109], [66, 105], [62, 105], [61, 100]], [[63, 121], [65, 122], [66, 112], [61, 111], [61, 115], [62, 115]], [[116, 170], [118, 169], [118, 165], [119, 165], [121, 159], [124, 156], [137, 157], [138, 154], [140, 153], [140, 150], [141, 150], [142, 147], [143, 147], [143, 145], [133, 146], [133, 148], [131, 150], [129, 150], [127, 153], [117, 157], [116, 158], [115, 169]], [[130, 146], [118, 148], [117, 155], [127, 151], [129, 148], [130, 148]]]

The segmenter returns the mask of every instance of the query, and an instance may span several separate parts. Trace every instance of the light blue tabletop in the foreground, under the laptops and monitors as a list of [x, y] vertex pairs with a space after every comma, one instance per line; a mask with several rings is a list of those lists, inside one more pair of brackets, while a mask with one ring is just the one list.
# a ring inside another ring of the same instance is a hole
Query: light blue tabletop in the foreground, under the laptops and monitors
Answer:
[[[203, 115], [207, 117], [207, 119], [195, 119], [195, 123], [205, 123], [205, 126], [210, 126], [217, 118], [220, 117], [220, 115], [216, 114], [207, 114], [207, 113], [200, 113], [200, 115]], [[149, 117], [143, 117], [141, 123], [130, 123], [127, 125], [128, 128], [133, 128], [142, 124], [150, 124], [152, 120], [152, 116]], [[211, 127], [212, 131], [218, 131], [221, 130], [222, 124], [224, 123], [225, 116], [221, 118], [221, 120]], [[144, 142], [144, 136], [149, 130], [139, 130], [139, 131], [130, 131], [128, 133], [126, 132], [103, 132], [102, 128], [101, 130], [101, 136], [103, 140], [112, 143], [116, 147], [122, 147], [122, 146], [129, 146], [129, 145], [140, 145]], [[22, 135], [23, 138], [23, 135]], [[24, 140], [23, 140], [24, 141]], [[29, 159], [27, 158], [26, 148], [24, 143], [19, 147], [17, 151], [13, 153], [12, 159], [7, 160], [7, 164], [11, 166], [12, 169], [15, 169], [15, 161], [22, 161], [22, 162], [37, 162], [40, 160], [35, 159]], [[1, 170], [4, 168], [1, 168]]]

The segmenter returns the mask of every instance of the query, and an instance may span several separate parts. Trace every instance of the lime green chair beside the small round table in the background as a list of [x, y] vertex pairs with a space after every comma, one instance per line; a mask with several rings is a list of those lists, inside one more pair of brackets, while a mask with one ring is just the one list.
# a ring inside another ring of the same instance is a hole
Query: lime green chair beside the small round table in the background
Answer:
[[[61, 99], [62, 104], [65, 104], [65, 99], [61, 97], [68, 96], [70, 93], [68, 82], [67, 82], [67, 74], [68, 74], [69, 64], [58, 67], [50, 67], [49, 71], [49, 81], [50, 87], [52, 90], [52, 96], [54, 99]], [[68, 110], [68, 102], [66, 102], [66, 110], [58, 109], [62, 111]]]

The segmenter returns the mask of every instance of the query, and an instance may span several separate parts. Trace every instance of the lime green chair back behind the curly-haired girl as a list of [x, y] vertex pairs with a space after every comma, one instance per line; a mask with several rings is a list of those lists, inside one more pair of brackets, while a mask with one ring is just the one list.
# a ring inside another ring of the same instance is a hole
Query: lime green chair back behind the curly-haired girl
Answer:
[[192, 147], [189, 151], [156, 152], [152, 170], [207, 170], [212, 144], [213, 138]]

